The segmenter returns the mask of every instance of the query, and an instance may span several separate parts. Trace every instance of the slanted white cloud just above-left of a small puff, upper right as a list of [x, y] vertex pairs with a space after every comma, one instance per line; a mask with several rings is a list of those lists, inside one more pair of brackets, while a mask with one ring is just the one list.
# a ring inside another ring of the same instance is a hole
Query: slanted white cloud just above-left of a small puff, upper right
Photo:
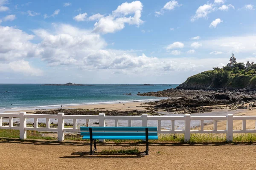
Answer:
[[207, 18], [208, 14], [214, 10], [213, 6], [213, 4], [204, 4], [203, 6], [199, 6], [199, 8], [195, 12], [195, 15], [192, 16], [192, 18], [190, 19], [191, 22], [194, 22], [199, 18]]

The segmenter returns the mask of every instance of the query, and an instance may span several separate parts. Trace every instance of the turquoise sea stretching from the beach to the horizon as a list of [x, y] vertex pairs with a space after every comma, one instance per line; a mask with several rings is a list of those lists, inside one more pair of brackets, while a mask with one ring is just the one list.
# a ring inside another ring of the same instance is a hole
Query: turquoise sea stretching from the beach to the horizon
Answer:
[[[0, 109], [156, 99], [156, 97], [137, 96], [136, 94], [138, 92], [162, 91], [175, 88], [177, 85], [42, 86], [40, 84], [0, 84]], [[123, 95], [125, 93], [132, 95]]]

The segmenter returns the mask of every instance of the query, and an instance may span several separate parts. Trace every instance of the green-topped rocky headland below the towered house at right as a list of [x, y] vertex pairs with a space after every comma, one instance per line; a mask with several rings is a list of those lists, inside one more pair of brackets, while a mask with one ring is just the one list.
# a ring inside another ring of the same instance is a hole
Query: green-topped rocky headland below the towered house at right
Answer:
[[180, 89], [256, 89], [256, 74], [253, 70], [213, 70], [196, 74], [186, 79]]

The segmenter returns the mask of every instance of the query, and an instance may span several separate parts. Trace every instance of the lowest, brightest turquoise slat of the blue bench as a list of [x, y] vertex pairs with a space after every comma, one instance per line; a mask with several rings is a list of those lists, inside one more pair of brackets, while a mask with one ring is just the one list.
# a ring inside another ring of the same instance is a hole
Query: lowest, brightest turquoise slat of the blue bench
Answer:
[[[90, 139], [90, 136], [83, 136], [82, 139]], [[93, 139], [130, 139], [145, 140], [146, 136], [93, 136]], [[148, 139], [158, 139], [158, 136], [148, 136]]]

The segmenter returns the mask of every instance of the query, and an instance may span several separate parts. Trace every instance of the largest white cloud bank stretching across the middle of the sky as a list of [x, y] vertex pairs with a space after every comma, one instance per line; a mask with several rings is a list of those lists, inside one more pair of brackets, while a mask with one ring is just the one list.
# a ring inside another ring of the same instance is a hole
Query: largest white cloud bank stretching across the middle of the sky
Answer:
[[[73, 65], [82, 70], [112, 70], [126, 74], [141, 74], [147, 70], [149, 75], [201, 67], [195, 65], [193, 59], [180, 63], [180, 58], [159, 59], [147, 57], [145, 54], [137, 56], [132, 51], [106, 49], [106, 43], [99, 34], [73, 26], [56, 25], [55, 29], [55, 33], [50, 35], [46, 30], [33, 30], [36, 35], [44, 37], [38, 44], [41, 51], [37, 56], [50, 66]], [[176, 47], [182, 47], [179, 43], [174, 44]], [[172, 54], [178, 55], [180, 51], [174, 50]]]

